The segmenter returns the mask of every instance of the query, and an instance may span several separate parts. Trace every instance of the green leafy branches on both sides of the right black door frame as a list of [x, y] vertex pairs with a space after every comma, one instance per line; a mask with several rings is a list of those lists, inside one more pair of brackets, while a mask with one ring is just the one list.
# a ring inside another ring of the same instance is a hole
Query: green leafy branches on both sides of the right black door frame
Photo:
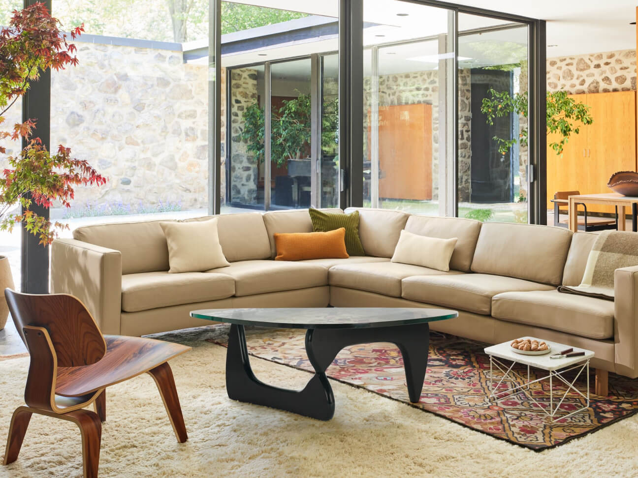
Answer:
[[[507, 91], [494, 91], [489, 89], [489, 98], [484, 98], [481, 104], [481, 112], [487, 117], [487, 124], [494, 124], [494, 118], [500, 118], [510, 113], [522, 115], [527, 118], [529, 98], [527, 92], [510, 95]], [[580, 133], [580, 124], [592, 124], [590, 107], [583, 103], [577, 103], [574, 98], [569, 98], [565, 91], [547, 93], [547, 134], [558, 133], [559, 140], [549, 143], [556, 154], [563, 154], [563, 148], [572, 134]], [[498, 143], [498, 151], [506, 154], [518, 141], [526, 146], [528, 143], [528, 129], [522, 128], [518, 138], [500, 138], [494, 136]]]

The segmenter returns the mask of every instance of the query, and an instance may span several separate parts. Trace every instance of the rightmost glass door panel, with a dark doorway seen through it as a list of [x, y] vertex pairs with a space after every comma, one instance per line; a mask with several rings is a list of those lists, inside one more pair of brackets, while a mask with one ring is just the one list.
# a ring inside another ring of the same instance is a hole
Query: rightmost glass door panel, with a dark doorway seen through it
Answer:
[[528, 222], [527, 110], [498, 113], [495, 94], [527, 105], [528, 25], [459, 14], [459, 215]]

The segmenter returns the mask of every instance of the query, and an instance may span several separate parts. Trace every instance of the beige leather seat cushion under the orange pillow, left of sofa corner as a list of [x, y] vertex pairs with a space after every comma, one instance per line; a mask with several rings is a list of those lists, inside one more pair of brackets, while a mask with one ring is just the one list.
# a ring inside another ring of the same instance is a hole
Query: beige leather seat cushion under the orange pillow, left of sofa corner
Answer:
[[307, 289], [328, 283], [327, 268], [292, 261], [239, 261], [207, 273], [222, 273], [235, 279], [235, 296], [238, 297]]

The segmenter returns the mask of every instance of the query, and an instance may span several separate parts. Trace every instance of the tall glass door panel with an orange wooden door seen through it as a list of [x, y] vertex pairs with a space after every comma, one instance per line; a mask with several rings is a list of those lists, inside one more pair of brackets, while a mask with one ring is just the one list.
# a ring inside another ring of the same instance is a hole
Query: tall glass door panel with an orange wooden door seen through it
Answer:
[[364, 1], [366, 206], [454, 214], [454, 17]]

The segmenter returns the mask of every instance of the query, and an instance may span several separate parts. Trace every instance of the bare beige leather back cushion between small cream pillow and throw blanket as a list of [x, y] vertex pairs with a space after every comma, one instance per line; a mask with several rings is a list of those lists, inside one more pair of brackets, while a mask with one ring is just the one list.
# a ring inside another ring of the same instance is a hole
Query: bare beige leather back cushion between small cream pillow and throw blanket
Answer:
[[486, 222], [471, 270], [558, 286], [571, 239], [565, 228]]

